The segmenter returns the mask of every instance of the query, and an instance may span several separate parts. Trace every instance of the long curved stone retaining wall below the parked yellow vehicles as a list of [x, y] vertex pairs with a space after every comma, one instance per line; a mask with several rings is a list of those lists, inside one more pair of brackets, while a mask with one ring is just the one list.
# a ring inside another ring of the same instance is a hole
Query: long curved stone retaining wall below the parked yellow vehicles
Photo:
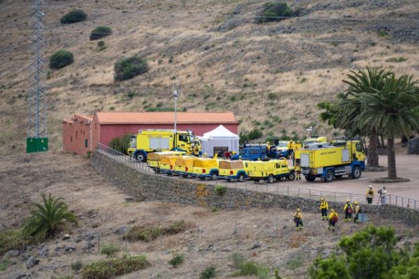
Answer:
[[[91, 165], [110, 183], [122, 188], [127, 195], [131, 195], [137, 200], [178, 202], [221, 209], [278, 207], [295, 210], [299, 207], [303, 212], [319, 212], [318, 200], [233, 187], [228, 187], [226, 193], [220, 196], [215, 191], [216, 182], [211, 185], [200, 183], [198, 179], [191, 181], [154, 173], [138, 172], [129, 165], [124, 165], [98, 151], [92, 156]], [[341, 202], [329, 202], [329, 205], [339, 209], [344, 206]], [[401, 220], [407, 225], [419, 224], [419, 211], [413, 209], [392, 205], [364, 205], [362, 210], [369, 214], [379, 214], [381, 218]]]

